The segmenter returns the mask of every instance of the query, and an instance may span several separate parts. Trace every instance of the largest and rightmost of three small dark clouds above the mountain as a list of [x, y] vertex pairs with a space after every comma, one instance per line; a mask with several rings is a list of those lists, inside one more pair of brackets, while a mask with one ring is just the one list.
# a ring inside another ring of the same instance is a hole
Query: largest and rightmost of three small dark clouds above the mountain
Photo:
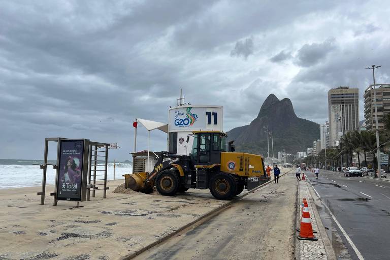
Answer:
[[328, 39], [322, 43], [305, 44], [298, 50], [297, 64], [310, 67], [325, 58], [335, 48], [335, 39]]

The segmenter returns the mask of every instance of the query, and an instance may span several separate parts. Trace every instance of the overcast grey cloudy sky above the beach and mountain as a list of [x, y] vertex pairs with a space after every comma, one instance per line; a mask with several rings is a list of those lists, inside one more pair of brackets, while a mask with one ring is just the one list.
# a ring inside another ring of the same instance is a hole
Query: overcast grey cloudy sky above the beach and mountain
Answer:
[[[133, 120], [168, 121], [180, 88], [250, 123], [270, 93], [327, 120], [327, 91], [390, 81], [387, 1], [0, 1], [0, 158], [45, 137], [133, 149]], [[361, 118], [363, 110], [361, 109]], [[139, 128], [138, 148], [147, 148]], [[154, 150], [166, 135], [152, 132]]]

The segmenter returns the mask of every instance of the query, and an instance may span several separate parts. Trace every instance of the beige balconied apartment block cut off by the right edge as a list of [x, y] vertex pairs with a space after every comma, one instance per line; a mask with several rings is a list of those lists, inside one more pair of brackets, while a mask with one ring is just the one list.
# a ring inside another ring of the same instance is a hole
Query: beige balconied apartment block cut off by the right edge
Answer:
[[[390, 113], [390, 84], [375, 84], [376, 106], [378, 112], [378, 128], [383, 129], [383, 117]], [[370, 85], [364, 91], [364, 117], [367, 130], [375, 128], [374, 89]]]

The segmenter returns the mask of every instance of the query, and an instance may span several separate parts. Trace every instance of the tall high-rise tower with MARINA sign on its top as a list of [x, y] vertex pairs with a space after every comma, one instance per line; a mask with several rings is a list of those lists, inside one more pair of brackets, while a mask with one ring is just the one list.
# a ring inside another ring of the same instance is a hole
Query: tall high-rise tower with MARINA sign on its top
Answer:
[[328, 91], [331, 146], [339, 136], [359, 127], [359, 88], [337, 87]]

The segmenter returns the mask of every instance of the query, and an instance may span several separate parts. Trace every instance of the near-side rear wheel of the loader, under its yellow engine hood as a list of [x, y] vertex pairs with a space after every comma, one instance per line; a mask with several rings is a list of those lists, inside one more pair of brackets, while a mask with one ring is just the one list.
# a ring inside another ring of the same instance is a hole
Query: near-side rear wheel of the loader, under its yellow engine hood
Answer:
[[237, 181], [230, 174], [218, 173], [211, 178], [209, 189], [215, 199], [231, 200], [236, 196]]

